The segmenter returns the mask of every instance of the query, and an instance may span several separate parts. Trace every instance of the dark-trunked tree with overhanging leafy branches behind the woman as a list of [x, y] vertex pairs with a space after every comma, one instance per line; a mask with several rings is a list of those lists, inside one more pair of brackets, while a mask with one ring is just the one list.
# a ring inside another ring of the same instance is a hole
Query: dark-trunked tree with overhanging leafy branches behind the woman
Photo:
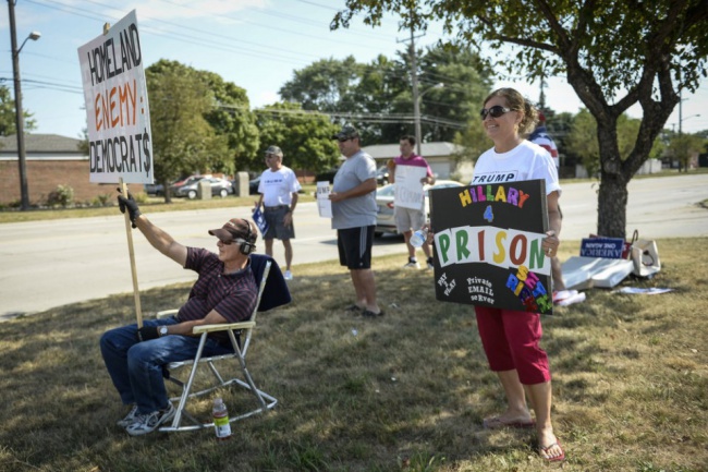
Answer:
[[[624, 238], [627, 183], [649, 157], [652, 144], [680, 100], [706, 75], [708, 2], [705, 0], [346, 0], [332, 28], [357, 13], [378, 25], [384, 12], [401, 27], [425, 29], [443, 21], [469, 45], [512, 45], [499, 61], [529, 80], [564, 74], [597, 121], [600, 154], [598, 232]], [[618, 120], [643, 109], [633, 148], [623, 158]]]

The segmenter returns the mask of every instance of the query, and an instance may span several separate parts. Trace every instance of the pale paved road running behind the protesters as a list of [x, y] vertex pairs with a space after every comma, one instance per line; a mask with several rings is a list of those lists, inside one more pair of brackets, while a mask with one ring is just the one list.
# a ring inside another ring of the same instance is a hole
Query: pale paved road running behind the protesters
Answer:
[[[708, 235], [708, 210], [696, 203], [708, 199], [708, 176], [642, 179], [630, 183], [627, 233], [644, 238]], [[597, 229], [597, 195], [590, 183], [563, 187], [565, 219], [562, 239], [577, 241]], [[148, 215], [178, 241], [215, 247], [209, 228], [231, 217], [248, 216], [249, 208], [171, 211]], [[68, 303], [133, 291], [122, 216], [7, 223], [0, 226], [0, 320]], [[297, 205], [295, 264], [337, 259], [334, 232], [317, 216], [314, 203]], [[141, 290], [190, 281], [195, 277], [151, 249], [133, 233]], [[282, 264], [282, 244], [276, 242]], [[263, 251], [263, 244], [259, 244]], [[400, 238], [382, 238], [374, 255], [403, 253]], [[403, 264], [404, 256], [401, 256]], [[297, 270], [295, 267], [295, 276]]]

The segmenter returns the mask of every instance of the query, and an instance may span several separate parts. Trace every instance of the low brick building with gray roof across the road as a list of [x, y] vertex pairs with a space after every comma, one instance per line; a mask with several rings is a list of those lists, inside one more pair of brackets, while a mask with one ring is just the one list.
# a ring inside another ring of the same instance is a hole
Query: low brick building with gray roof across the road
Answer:
[[[91, 202], [114, 193], [114, 184], [88, 181], [88, 156], [78, 150], [81, 140], [58, 134], [25, 134], [25, 165], [29, 204], [44, 205], [58, 185], [74, 190], [74, 202]], [[0, 206], [19, 203], [17, 137], [0, 136]]]

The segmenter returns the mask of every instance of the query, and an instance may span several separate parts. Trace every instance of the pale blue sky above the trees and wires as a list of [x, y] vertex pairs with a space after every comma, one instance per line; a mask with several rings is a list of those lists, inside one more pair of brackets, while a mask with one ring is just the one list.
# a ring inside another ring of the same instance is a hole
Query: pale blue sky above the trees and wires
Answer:
[[[350, 29], [329, 31], [329, 23], [344, 0], [17, 0], [17, 43], [33, 32], [20, 55], [23, 105], [34, 113], [36, 133], [78, 137], [85, 128], [77, 48], [114, 24], [131, 10], [137, 12], [145, 65], [159, 59], [176, 60], [199, 70], [218, 73], [243, 87], [252, 107], [279, 99], [278, 90], [294, 71], [327, 58], [350, 55], [369, 62], [379, 53], [393, 58], [407, 47], [408, 32], [398, 31], [398, 20], [384, 19], [371, 28], [361, 17]], [[8, 10], [0, 13], [0, 80], [11, 90], [12, 61]], [[416, 39], [419, 47], [442, 36], [432, 27]], [[521, 77], [500, 81], [538, 99], [538, 84]], [[14, 92], [13, 92], [14, 93]], [[562, 77], [548, 80], [548, 105], [557, 111], [577, 112], [581, 102]], [[695, 95], [684, 94], [683, 131], [708, 129], [708, 83]], [[640, 117], [633, 108], [630, 114]], [[701, 114], [696, 117], [696, 114]], [[679, 108], [667, 123], [678, 130]]]

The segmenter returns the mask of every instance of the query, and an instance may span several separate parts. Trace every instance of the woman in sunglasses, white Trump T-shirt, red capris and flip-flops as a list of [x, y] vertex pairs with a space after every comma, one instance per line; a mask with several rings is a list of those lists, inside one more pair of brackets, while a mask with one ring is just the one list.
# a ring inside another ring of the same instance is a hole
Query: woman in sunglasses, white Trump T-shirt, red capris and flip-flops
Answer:
[[[544, 250], [549, 258], [553, 257], [561, 231], [558, 171], [546, 149], [522, 137], [534, 130], [538, 111], [515, 89], [499, 88], [487, 97], [480, 116], [495, 146], [475, 164], [472, 183], [489, 182], [491, 176], [504, 176], [506, 182], [544, 179], [550, 228]], [[535, 426], [540, 456], [549, 461], [563, 460], [565, 453], [551, 424], [551, 374], [548, 355], [539, 346], [540, 315], [487, 306], [475, 306], [475, 313], [489, 366], [499, 376], [508, 402], [506, 411], [486, 419], [484, 426]], [[536, 413], [535, 423], [526, 396]]]

